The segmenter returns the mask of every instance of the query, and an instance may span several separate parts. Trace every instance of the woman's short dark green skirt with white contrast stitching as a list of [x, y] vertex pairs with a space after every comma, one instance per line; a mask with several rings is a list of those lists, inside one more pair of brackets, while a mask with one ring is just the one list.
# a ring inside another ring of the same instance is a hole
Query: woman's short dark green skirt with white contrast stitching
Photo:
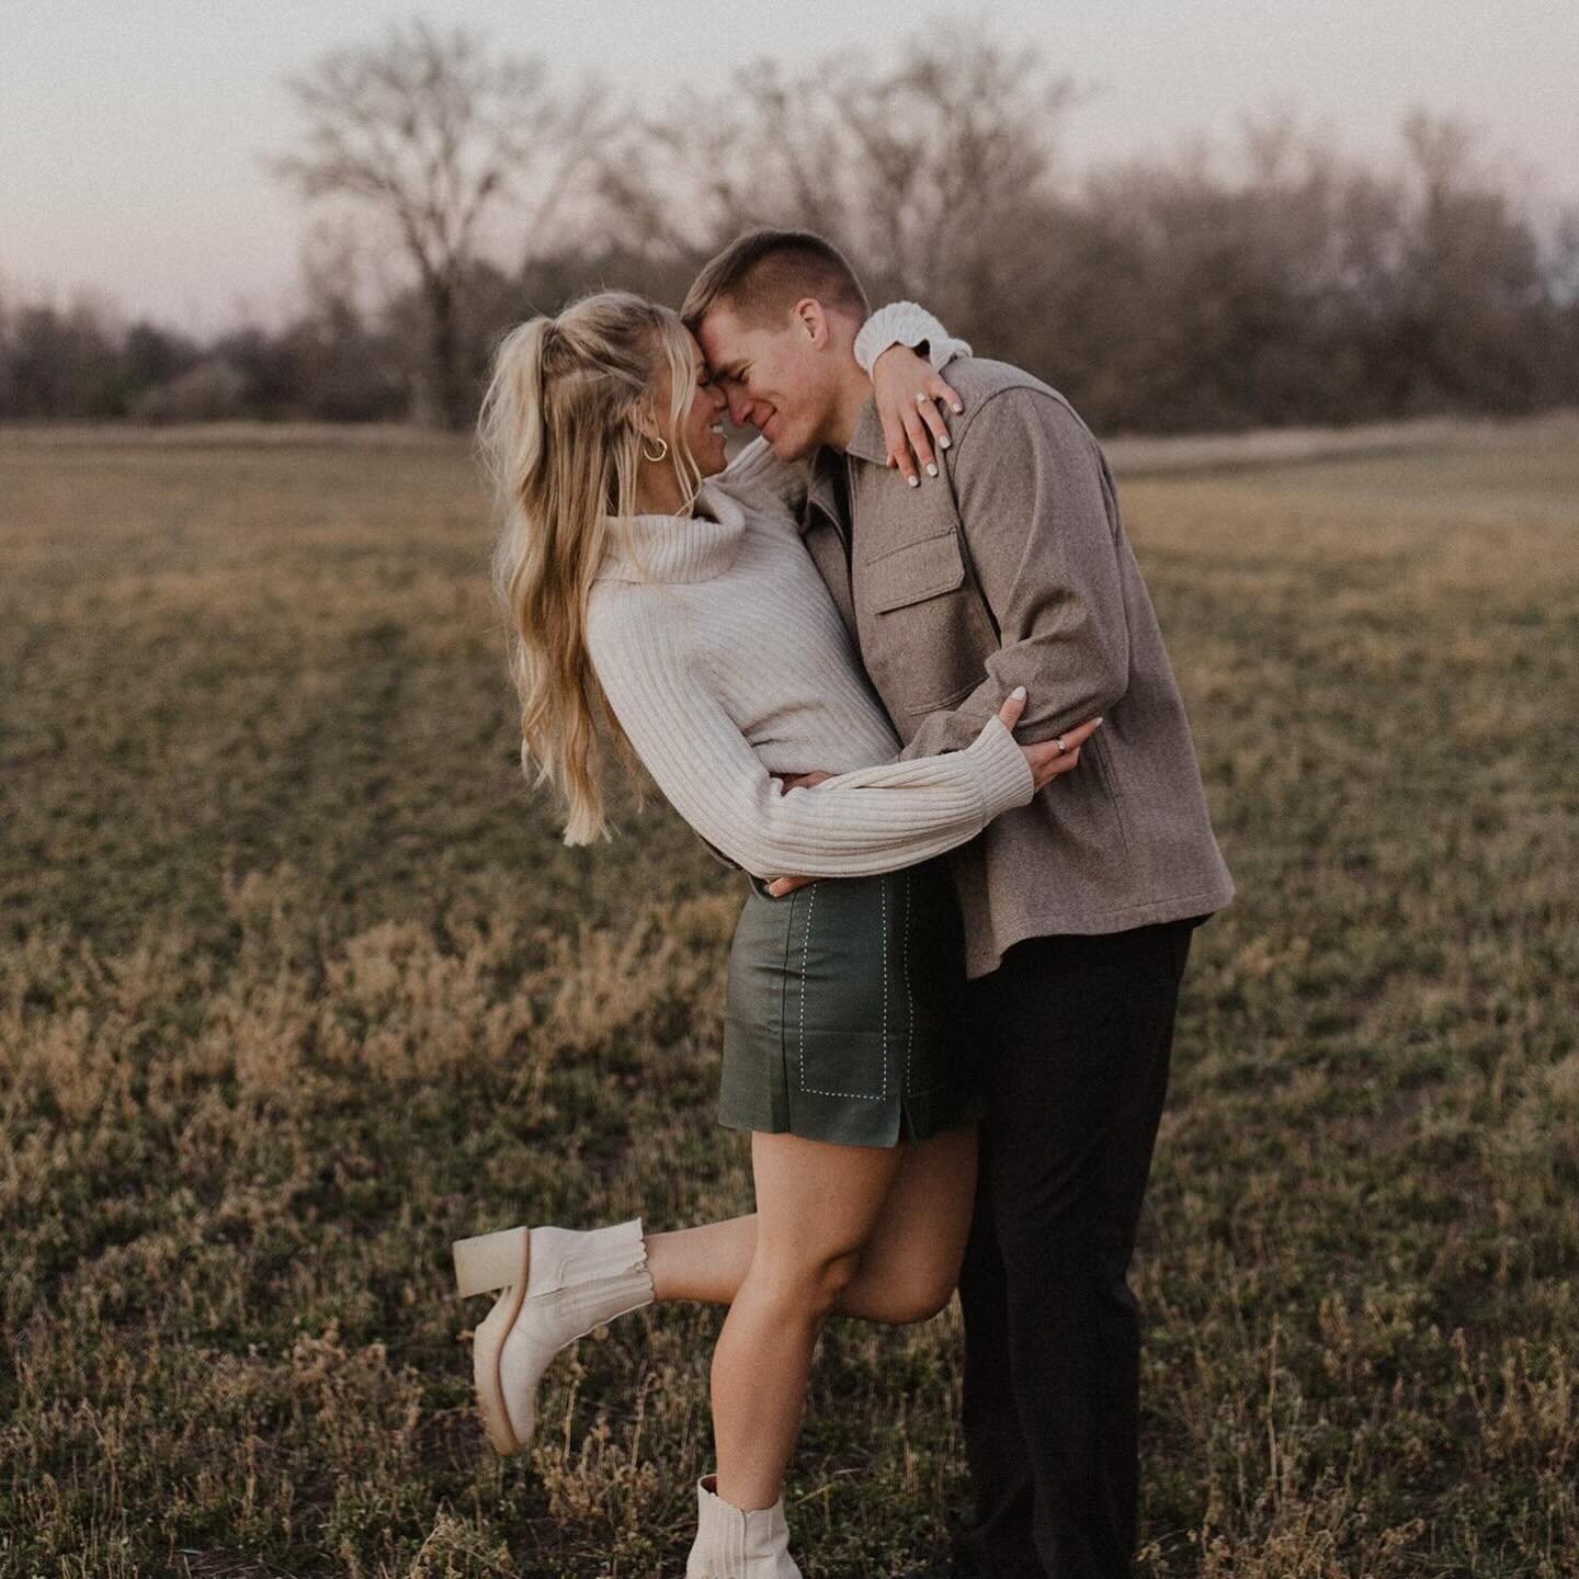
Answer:
[[785, 898], [750, 883], [729, 949], [718, 1121], [892, 1146], [979, 1118], [946, 857]]

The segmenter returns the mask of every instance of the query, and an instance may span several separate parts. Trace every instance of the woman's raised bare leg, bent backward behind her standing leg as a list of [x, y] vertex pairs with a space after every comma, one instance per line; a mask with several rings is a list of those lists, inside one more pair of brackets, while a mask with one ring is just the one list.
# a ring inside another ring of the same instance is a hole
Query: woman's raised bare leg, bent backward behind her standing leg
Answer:
[[[924, 1322], [949, 1301], [976, 1195], [976, 1126], [903, 1148], [856, 1274], [834, 1306], [867, 1322]], [[658, 1300], [733, 1304], [756, 1252], [756, 1214], [647, 1235]]]

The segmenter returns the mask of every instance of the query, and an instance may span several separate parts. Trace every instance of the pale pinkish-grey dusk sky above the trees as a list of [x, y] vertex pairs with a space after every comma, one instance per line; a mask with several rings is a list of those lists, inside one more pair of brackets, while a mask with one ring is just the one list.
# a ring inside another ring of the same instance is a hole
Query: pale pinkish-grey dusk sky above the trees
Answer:
[[540, 54], [561, 85], [597, 69], [665, 101], [763, 55], [881, 62], [957, 17], [1094, 90], [1067, 120], [1075, 169], [1228, 139], [1273, 104], [1393, 156], [1426, 106], [1476, 125], [1538, 204], [1579, 201], [1574, 0], [0, 0], [0, 287], [202, 333], [276, 321], [306, 226], [261, 163], [297, 128], [281, 79], [412, 14]]

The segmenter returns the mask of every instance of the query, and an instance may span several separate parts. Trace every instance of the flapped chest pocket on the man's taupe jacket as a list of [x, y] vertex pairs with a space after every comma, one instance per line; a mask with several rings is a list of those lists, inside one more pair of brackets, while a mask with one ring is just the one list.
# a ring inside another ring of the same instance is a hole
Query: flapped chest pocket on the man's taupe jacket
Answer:
[[992, 622], [954, 526], [864, 561], [856, 608], [861, 655], [895, 718], [947, 707], [985, 677]]

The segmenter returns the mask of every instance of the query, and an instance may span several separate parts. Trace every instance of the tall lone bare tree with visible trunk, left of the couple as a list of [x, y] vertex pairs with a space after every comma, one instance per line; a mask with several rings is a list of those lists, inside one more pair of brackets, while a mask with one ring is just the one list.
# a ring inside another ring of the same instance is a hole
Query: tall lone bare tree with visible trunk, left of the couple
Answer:
[[463, 425], [469, 265], [496, 212], [513, 207], [529, 234], [546, 226], [594, 145], [597, 87], [561, 103], [542, 62], [494, 57], [477, 33], [423, 21], [332, 51], [286, 85], [306, 131], [275, 172], [309, 202], [347, 199], [393, 226], [428, 317], [418, 415]]

